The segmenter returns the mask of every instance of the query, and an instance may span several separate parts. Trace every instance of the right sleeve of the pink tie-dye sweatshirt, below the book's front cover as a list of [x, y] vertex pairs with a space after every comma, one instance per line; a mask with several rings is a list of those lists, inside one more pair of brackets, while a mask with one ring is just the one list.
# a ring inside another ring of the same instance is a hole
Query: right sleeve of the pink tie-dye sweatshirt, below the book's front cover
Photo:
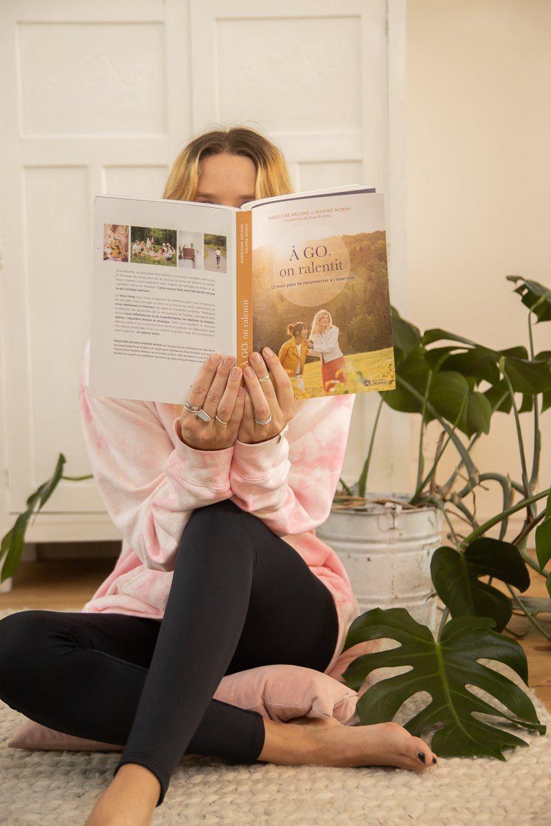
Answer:
[[235, 441], [232, 499], [278, 536], [302, 534], [329, 516], [339, 484], [356, 395], [300, 402], [287, 435]]

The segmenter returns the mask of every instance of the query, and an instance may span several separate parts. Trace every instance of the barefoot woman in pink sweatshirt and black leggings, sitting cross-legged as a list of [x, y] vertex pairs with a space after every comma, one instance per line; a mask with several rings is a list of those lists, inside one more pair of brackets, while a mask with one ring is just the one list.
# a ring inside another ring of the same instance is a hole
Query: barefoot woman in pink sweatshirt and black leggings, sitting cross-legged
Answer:
[[[235, 128], [192, 140], [164, 197], [240, 207], [290, 191], [278, 149]], [[83, 434], [121, 553], [81, 612], [0, 620], [2, 700], [125, 746], [86, 826], [150, 824], [184, 753], [414, 771], [434, 757], [397, 724], [281, 724], [213, 699], [224, 674], [247, 668], [327, 670], [359, 613], [342, 563], [315, 535], [355, 396], [295, 402], [268, 348], [243, 371], [213, 355], [184, 405], [169, 405], [93, 396], [87, 344]]]

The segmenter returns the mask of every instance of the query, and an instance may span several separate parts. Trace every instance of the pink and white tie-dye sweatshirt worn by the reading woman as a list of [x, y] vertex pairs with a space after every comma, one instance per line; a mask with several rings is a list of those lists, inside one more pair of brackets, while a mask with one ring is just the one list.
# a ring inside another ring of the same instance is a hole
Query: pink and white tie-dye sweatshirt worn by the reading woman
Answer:
[[80, 375], [80, 418], [93, 476], [122, 534], [113, 571], [83, 606], [162, 618], [178, 543], [195, 508], [231, 499], [301, 554], [339, 615], [339, 656], [358, 602], [343, 563], [316, 537], [339, 482], [355, 395], [297, 401], [283, 438], [196, 450], [181, 439], [181, 405], [88, 392], [90, 342]]

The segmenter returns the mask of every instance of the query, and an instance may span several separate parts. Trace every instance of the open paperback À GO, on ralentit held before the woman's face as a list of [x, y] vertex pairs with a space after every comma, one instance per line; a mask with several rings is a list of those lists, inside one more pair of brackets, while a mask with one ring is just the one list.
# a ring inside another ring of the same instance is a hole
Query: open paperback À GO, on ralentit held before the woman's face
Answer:
[[381, 193], [94, 198], [90, 392], [183, 404], [207, 355], [265, 346], [297, 399], [394, 389]]

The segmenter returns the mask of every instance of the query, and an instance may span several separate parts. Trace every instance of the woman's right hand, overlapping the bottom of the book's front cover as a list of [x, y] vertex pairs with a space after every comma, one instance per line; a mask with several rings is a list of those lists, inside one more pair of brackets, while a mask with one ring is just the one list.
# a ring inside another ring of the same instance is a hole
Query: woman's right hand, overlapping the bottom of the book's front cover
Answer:
[[[283, 430], [295, 413], [291, 377], [268, 347], [264, 347], [262, 353], [262, 356], [259, 353], [251, 353], [250, 364], [243, 370], [246, 386], [245, 409], [237, 438], [247, 444], [272, 439]], [[270, 379], [267, 382], [259, 382], [259, 378], [265, 376], [268, 370], [272, 373]], [[255, 418], [268, 419], [270, 413], [272, 420], [269, 425], [257, 425], [254, 421]]]

